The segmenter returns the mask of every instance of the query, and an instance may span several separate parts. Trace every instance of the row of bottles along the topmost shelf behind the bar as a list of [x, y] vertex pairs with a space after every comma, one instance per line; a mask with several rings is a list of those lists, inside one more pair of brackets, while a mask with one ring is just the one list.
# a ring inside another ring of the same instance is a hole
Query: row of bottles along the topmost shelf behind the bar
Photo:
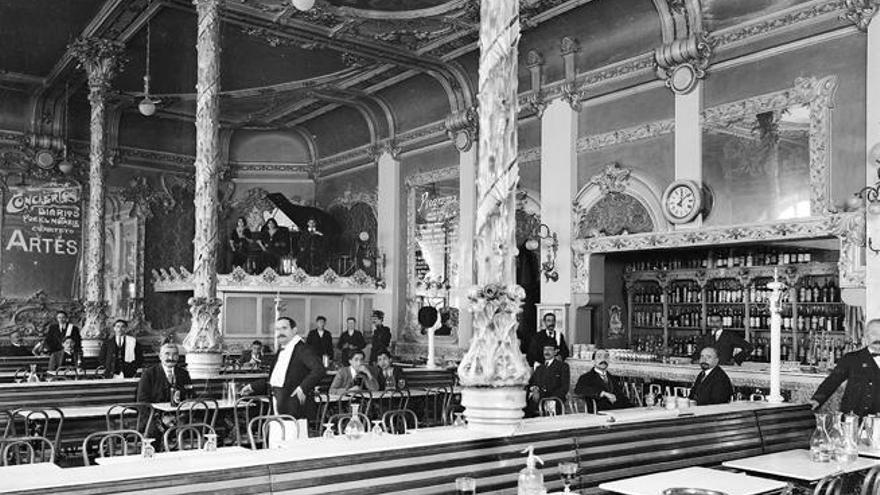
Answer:
[[814, 256], [810, 251], [795, 249], [760, 249], [737, 252], [735, 249], [715, 251], [674, 258], [640, 259], [627, 263], [627, 272], [683, 270], [697, 268], [736, 268], [751, 266], [794, 265], [811, 263]]

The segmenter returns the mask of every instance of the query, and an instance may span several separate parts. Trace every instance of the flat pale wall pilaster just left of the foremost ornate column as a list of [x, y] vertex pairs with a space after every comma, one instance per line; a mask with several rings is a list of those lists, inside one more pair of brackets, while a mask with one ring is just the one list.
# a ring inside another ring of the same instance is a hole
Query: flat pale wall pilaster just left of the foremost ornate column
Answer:
[[[458, 347], [467, 349], [473, 337], [473, 317], [468, 311], [468, 289], [476, 283], [474, 273], [474, 214], [476, 211], [477, 112], [468, 108], [446, 117], [446, 133], [458, 149], [458, 253], [457, 283], [450, 305], [459, 308]], [[430, 362], [430, 360], [428, 361]]]

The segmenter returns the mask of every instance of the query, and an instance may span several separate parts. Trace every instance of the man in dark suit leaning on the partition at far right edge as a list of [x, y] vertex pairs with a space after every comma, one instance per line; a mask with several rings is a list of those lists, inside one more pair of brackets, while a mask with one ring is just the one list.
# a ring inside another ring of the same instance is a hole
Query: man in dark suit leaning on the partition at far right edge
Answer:
[[846, 381], [840, 399], [841, 412], [853, 412], [862, 417], [880, 413], [880, 319], [875, 318], [865, 325], [862, 343], [865, 347], [845, 354], [816, 389], [810, 399], [813, 409], [824, 404]]

